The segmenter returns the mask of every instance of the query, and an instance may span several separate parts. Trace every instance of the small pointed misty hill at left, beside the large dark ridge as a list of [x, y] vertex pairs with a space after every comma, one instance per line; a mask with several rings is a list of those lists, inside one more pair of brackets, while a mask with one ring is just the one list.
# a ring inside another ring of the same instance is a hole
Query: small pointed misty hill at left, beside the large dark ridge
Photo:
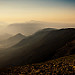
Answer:
[[25, 38], [24, 35], [21, 33], [16, 34], [15, 36], [12, 36], [6, 40], [0, 41], [0, 48], [8, 48], [11, 47], [17, 43], [19, 43], [21, 40]]

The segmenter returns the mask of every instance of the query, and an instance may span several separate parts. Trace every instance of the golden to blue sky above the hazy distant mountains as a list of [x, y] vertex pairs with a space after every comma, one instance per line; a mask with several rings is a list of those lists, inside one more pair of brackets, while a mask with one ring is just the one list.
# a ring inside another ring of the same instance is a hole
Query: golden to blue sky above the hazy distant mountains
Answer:
[[30, 20], [75, 23], [75, 0], [0, 0], [0, 24]]

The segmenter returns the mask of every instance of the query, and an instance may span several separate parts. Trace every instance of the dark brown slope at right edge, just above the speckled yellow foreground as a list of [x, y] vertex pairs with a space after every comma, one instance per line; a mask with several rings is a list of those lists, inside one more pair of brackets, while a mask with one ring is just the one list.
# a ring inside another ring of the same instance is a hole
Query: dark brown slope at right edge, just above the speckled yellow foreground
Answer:
[[72, 54], [75, 54], [75, 40], [66, 43], [66, 45], [64, 45], [62, 48], [57, 50], [53, 58], [59, 58]]

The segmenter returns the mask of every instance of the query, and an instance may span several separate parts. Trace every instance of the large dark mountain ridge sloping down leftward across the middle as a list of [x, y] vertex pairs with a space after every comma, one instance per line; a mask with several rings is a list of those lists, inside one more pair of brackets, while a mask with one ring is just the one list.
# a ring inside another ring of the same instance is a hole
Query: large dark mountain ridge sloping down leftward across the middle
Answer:
[[[67, 55], [69, 51], [60, 48], [73, 40], [75, 40], [74, 28], [43, 29], [4, 50], [3, 56], [0, 56], [0, 67], [43, 62], [53, 59], [56, 54], [61, 57], [59, 50]], [[69, 54], [73, 51], [70, 49]]]

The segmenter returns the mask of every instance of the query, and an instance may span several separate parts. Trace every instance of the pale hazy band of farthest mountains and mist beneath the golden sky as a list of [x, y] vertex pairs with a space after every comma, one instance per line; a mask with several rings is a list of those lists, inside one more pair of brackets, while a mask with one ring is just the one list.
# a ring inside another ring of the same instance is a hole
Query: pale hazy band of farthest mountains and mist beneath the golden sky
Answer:
[[26, 23], [13, 23], [7, 25], [6, 27], [0, 26], [0, 35], [4, 33], [16, 35], [18, 33], [22, 33], [25, 36], [32, 35], [40, 29], [44, 28], [72, 28], [75, 27], [74, 24], [67, 23], [48, 23], [48, 22], [40, 22], [40, 21], [29, 21]]

